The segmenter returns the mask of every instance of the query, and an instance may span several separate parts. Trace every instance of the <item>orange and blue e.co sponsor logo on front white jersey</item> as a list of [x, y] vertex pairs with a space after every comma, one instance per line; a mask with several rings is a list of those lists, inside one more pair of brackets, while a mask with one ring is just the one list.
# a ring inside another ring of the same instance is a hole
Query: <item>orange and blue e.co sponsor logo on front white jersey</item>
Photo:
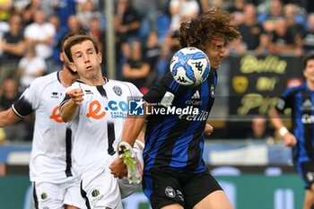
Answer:
[[93, 100], [90, 103], [89, 112], [86, 114], [86, 117], [101, 119], [104, 118], [109, 112], [111, 118], [126, 118], [127, 109], [127, 103], [123, 100], [109, 100], [108, 106], [105, 108], [101, 108], [100, 101]]

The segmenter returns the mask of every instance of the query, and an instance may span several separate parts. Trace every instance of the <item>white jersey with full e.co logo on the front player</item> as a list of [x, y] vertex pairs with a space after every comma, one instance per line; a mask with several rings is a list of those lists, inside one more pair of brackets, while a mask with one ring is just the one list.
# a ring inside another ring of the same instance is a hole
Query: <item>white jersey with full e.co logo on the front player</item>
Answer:
[[[142, 93], [132, 83], [115, 80], [100, 86], [77, 81], [67, 91], [75, 88], [82, 88], [83, 102], [69, 125], [74, 135], [74, 170], [83, 179], [92, 172], [101, 171], [116, 157], [128, 100], [138, 100]], [[65, 96], [61, 106], [66, 100], [69, 100], [68, 96]]]

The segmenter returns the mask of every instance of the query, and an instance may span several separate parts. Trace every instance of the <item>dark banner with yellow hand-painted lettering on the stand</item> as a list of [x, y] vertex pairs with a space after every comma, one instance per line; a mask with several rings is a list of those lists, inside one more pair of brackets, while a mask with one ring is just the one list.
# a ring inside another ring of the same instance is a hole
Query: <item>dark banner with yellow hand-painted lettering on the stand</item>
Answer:
[[302, 82], [302, 57], [229, 57], [231, 116], [265, 115], [283, 91]]

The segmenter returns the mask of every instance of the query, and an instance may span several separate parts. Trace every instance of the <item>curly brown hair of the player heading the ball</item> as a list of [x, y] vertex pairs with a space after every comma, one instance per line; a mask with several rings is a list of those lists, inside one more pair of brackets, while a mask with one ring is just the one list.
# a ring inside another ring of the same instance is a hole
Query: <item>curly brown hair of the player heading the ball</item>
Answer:
[[226, 43], [231, 39], [241, 39], [240, 31], [232, 20], [231, 13], [214, 8], [198, 18], [182, 22], [179, 29], [180, 47], [205, 50], [210, 40], [216, 37], [221, 37]]

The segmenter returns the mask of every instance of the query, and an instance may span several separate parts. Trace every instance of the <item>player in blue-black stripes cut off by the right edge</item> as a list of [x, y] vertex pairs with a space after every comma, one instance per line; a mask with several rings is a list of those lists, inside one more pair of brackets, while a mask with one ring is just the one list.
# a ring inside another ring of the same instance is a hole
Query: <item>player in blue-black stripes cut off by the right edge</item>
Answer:
[[[269, 110], [269, 118], [283, 142], [292, 147], [293, 164], [304, 180], [303, 209], [314, 207], [314, 55], [304, 59], [305, 83], [288, 88]], [[280, 114], [292, 109], [292, 132], [284, 125]]]

